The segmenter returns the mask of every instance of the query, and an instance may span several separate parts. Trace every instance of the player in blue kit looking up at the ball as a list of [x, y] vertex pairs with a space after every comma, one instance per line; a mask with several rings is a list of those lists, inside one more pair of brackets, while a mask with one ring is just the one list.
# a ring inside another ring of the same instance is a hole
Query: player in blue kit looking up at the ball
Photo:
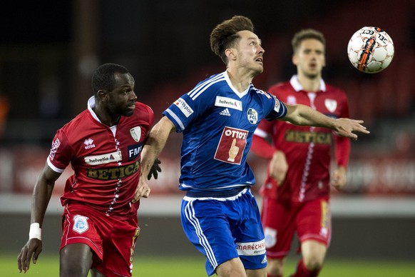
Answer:
[[[362, 121], [331, 119], [308, 106], [285, 105], [255, 89], [263, 71], [264, 49], [250, 19], [234, 16], [210, 34], [212, 51], [226, 70], [201, 81], [163, 112], [142, 153], [142, 171], [150, 171], [173, 131], [183, 133], [180, 190], [182, 225], [188, 239], [206, 256], [209, 276], [267, 276], [265, 241], [257, 202], [250, 187], [255, 178], [246, 158], [262, 119], [323, 126], [357, 139], [368, 134]], [[147, 196], [140, 178], [135, 198]]]

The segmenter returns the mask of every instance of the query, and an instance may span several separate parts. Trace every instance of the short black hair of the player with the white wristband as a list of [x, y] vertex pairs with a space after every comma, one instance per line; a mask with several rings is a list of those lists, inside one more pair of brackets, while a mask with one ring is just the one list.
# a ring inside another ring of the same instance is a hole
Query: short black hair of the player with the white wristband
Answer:
[[91, 86], [93, 94], [99, 90], [112, 91], [116, 84], [114, 74], [129, 74], [128, 69], [119, 64], [103, 64], [96, 69], [92, 76]]

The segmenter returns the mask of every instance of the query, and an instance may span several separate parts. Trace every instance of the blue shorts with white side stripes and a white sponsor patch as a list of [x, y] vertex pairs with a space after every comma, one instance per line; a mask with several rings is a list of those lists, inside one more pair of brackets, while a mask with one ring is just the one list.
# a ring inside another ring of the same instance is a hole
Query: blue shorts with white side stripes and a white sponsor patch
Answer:
[[249, 188], [226, 198], [185, 196], [182, 226], [189, 241], [206, 256], [206, 272], [240, 258], [245, 269], [267, 266], [265, 236], [257, 201]]

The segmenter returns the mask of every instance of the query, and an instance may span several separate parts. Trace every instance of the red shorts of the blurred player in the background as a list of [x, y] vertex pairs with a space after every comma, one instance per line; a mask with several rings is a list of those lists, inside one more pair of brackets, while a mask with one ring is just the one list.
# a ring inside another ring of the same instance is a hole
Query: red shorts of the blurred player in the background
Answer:
[[329, 198], [304, 203], [277, 201], [264, 197], [262, 226], [267, 256], [284, 258], [290, 252], [294, 232], [299, 241], [314, 240], [329, 246], [332, 236], [332, 215]]

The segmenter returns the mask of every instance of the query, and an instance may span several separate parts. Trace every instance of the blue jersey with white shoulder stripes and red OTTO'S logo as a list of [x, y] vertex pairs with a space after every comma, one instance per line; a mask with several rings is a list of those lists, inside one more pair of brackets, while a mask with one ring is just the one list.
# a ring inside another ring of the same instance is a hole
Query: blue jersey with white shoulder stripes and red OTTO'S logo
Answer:
[[183, 132], [179, 188], [220, 192], [253, 186], [255, 177], [246, 161], [252, 135], [262, 119], [285, 114], [280, 100], [252, 84], [238, 92], [227, 71], [201, 81], [163, 111]]

